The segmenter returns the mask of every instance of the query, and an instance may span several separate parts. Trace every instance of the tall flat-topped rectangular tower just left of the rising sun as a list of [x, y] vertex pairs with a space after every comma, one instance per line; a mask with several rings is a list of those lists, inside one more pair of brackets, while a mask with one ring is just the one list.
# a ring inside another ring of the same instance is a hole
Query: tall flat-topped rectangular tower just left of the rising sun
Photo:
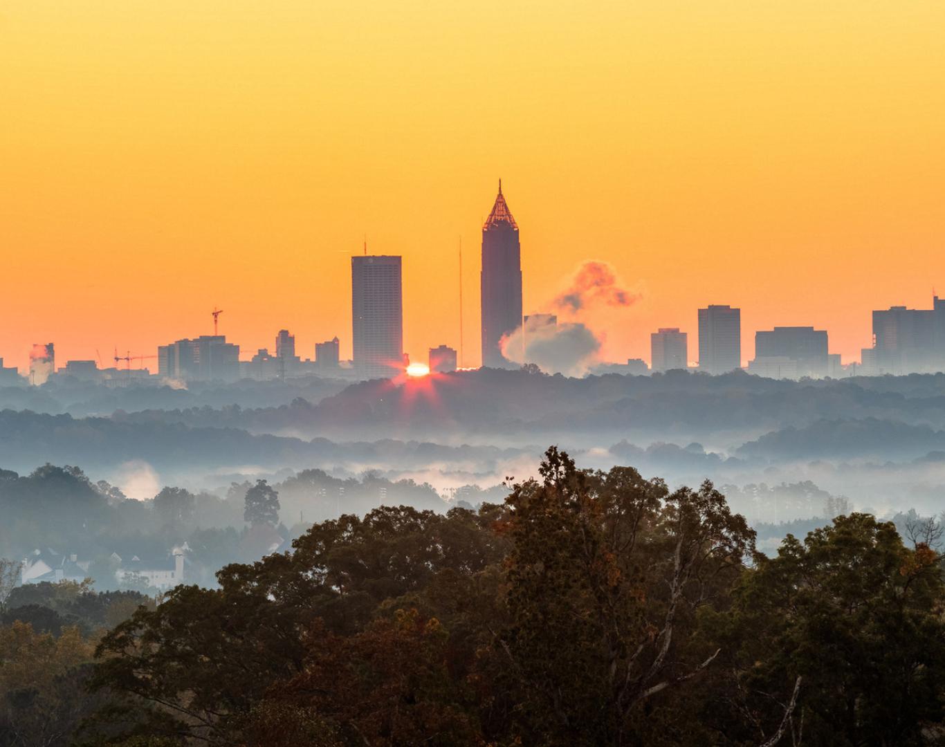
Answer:
[[401, 258], [352, 257], [353, 365], [360, 376], [404, 370]]

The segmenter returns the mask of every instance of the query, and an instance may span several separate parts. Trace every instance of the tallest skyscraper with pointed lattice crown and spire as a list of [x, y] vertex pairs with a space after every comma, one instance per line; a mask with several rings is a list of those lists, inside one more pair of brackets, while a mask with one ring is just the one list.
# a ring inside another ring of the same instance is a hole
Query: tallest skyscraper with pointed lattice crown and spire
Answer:
[[522, 325], [522, 248], [519, 227], [499, 195], [482, 227], [482, 365], [504, 368], [508, 360], [499, 348], [502, 336]]

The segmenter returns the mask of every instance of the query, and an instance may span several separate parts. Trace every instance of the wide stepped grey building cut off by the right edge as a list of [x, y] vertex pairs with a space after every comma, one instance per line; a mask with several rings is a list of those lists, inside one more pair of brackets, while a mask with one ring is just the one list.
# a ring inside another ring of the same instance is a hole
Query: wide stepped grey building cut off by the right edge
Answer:
[[931, 309], [892, 306], [873, 312], [873, 375], [945, 370], [945, 299]]

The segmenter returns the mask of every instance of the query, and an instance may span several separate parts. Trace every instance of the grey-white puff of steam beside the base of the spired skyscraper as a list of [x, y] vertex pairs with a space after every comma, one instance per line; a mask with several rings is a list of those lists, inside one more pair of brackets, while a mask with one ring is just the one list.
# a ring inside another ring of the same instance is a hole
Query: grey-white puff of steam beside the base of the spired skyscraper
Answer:
[[529, 318], [499, 343], [502, 354], [517, 364], [535, 364], [545, 373], [584, 376], [597, 361], [600, 341], [580, 322], [548, 323]]

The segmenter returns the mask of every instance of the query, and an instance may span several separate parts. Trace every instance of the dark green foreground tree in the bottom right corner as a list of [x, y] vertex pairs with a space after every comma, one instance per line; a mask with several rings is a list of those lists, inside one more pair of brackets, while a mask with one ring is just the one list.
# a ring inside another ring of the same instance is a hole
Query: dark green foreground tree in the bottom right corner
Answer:
[[804, 744], [937, 743], [926, 729], [945, 716], [943, 592], [939, 556], [904, 547], [891, 522], [852, 514], [788, 535], [756, 558], [731, 612], [707, 616], [731, 677], [704, 721], [766, 739], [800, 678], [789, 726]]

